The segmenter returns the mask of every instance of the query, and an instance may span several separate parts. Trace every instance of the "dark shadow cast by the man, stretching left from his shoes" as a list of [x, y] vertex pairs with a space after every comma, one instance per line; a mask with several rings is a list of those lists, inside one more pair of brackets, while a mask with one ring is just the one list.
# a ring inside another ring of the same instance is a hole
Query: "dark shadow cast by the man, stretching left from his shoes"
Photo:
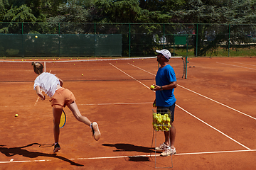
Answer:
[[142, 147], [135, 146], [132, 144], [102, 144], [105, 147], [115, 147], [113, 152], [143, 152], [143, 153], [153, 153], [155, 152], [154, 147]]

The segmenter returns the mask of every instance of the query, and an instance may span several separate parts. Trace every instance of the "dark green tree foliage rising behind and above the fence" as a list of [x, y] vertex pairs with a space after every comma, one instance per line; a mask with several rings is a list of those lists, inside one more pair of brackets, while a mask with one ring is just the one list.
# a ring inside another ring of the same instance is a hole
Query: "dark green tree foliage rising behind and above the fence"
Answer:
[[[246, 42], [245, 35], [255, 32], [253, 27], [235, 31], [236, 26], [220, 29], [211, 24], [256, 23], [255, 10], [256, 0], [0, 0], [0, 22], [191, 23], [197, 33], [193, 36], [195, 55], [205, 55], [220, 43]], [[0, 33], [9, 33], [11, 26], [1, 28]], [[145, 39], [153, 41], [155, 35], [150, 34], [158, 29], [157, 24], [142, 27]], [[228, 31], [233, 33], [229, 41]], [[213, 39], [207, 44], [206, 35]]]

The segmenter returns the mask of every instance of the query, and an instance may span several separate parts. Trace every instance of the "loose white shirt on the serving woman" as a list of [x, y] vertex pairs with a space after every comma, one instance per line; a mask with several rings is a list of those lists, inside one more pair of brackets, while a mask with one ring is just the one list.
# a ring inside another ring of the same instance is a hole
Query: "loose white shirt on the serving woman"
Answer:
[[60, 84], [60, 81], [54, 74], [43, 72], [36, 77], [33, 89], [36, 90], [36, 86], [40, 86], [41, 91], [51, 98], [55, 94], [58, 84]]

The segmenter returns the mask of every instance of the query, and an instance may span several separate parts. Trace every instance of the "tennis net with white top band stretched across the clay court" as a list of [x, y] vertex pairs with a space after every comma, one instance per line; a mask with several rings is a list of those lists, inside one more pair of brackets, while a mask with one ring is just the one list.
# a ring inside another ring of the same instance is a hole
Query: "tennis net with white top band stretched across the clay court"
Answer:
[[[156, 57], [0, 60], [0, 82], [34, 81], [37, 75], [33, 72], [32, 62], [41, 62], [45, 72], [55, 74], [63, 81], [154, 81], [159, 68]], [[185, 79], [183, 57], [172, 57], [169, 64], [174, 67], [177, 79]]]

